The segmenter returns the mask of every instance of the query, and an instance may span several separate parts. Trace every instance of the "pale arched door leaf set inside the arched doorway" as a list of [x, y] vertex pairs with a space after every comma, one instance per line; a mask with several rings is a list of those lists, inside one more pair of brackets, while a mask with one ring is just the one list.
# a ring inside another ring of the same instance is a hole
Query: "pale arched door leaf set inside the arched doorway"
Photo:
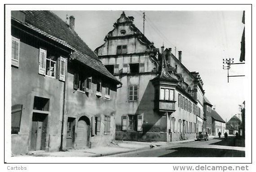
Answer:
[[88, 125], [84, 120], [79, 120], [77, 124], [77, 137], [76, 137], [76, 146], [84, 147], [87, 146], [87, 130]]

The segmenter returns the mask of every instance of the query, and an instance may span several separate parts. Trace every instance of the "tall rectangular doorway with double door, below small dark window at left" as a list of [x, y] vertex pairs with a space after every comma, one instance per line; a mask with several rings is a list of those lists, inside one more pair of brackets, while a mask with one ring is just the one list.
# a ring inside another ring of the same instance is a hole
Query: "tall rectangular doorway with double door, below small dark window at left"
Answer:
[[30, 150], [45, 150], [48, 114], [33, 113]]

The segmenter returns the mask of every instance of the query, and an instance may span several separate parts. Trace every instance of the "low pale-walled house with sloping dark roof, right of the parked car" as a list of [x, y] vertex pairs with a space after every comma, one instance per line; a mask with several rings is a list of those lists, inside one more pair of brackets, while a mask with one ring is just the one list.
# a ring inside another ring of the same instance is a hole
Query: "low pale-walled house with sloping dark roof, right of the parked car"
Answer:
[[221, 116], [213, 109], [211, 110], [211, 115], [212, 115], [212, 135], [218, 136], [219, 132], [221, 132], [221, 135], [224, 135], [225, 129], [226, 129], [225, 120], [223, 120]]

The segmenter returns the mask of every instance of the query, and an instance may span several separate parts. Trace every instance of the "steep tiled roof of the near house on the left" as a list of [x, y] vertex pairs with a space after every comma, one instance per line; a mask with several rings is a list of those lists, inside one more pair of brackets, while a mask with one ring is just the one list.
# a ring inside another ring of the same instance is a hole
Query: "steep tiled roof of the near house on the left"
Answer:
[[56, 14], [50, 11], [23, 11], [26, 15], [25, 25], [44, 36], [69, 47], [75, 52], [71, 56], [92, 69], [120, 83], [102, 64], [97, 55], [86, 43], [71, 30]]

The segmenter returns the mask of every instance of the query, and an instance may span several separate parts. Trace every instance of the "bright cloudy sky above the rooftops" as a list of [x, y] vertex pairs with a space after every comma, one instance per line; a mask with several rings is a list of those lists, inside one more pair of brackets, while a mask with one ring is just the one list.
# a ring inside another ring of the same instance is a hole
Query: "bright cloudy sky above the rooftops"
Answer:
[[[124, 11], [134, 17], [134, 24], [143, 32], [143, 12], [146, 14], [145, 36], [154, 46], [182, 51], [182, 64], [197, 71], [203, 80], [205, 96], [228, 121], [238, 114], [238, 104], [245, 100], [245, 77], [230, 77], [223, 69], [223, 58], [239, 62], [243, 34], [243, 11]], [[62, 20], [75, 17], [75, 31], [94, 51], [104, 43], [105, 35], [122, 11], [53, 11]], [[67, 21], [69, 23], [69, 21]], [[231, 66], [230, 75], [244, 75], [244, 64]]]

